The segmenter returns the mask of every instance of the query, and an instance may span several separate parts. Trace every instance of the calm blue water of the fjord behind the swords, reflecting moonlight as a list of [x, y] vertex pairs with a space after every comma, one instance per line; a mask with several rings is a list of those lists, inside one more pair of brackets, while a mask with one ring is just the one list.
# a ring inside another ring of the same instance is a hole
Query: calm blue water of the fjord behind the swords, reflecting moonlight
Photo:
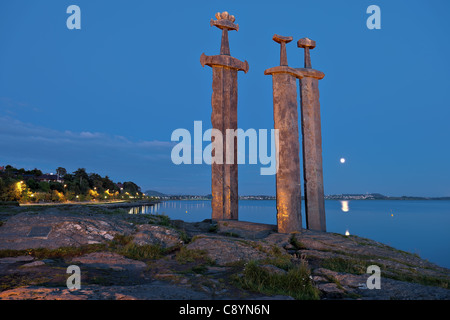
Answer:
[[[325, 210], [327, 231], [380, 241], [450, 268], [450, 201], [327, 200]], [[211, 218], [211, 202], [166, 201], [130, 213], [194, 222]], [[239, 220], [276, 224], [275, 200], [239, 201]]]

